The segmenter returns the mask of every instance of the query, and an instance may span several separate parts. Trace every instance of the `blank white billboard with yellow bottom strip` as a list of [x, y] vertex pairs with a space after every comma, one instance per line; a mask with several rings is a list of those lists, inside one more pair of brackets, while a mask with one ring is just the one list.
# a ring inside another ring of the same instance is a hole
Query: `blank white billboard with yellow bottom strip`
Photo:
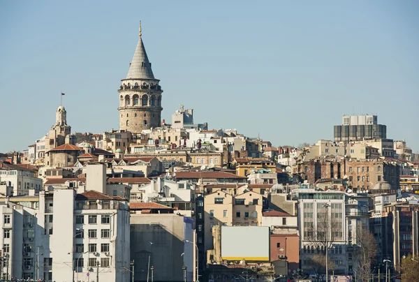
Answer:
[[269, 227], [221, 226], [223, 260], [269, 261], [269, 255]]

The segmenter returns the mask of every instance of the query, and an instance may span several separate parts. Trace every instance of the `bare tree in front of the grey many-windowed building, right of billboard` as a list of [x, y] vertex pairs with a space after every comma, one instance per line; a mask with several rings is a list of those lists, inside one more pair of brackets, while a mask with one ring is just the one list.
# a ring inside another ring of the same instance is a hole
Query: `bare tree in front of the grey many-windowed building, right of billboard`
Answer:
[[[332, 209], [332, 212], [329, 214], [328, 205], [321, 203], [317, 205], [316, 225], [314, 222], [307, 224], [307, 237], [311, 238], [309, 239], [311, 248], [316, 249], [316, 255], [312, 256], [310, 260], [311, 267], [316, 272], [317, 279], [323, 281], [326, 273], [326, 251], [330, 250], [337, 240], [343, 239], [343, 220], [339, 209], [336, 212], [333, 212], [335, 209]], [[311, 253], [314, 252], [311, 251]], [[328, 269], [333, 270], [335, 267], [329, 251]]]

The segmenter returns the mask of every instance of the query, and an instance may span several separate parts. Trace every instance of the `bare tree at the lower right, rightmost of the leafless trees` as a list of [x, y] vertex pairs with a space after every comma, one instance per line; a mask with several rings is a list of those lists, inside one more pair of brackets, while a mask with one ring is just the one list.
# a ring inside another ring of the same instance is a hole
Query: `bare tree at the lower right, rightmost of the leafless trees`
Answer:
[[374, 239], [374, 235], [372, 235], [363, 225], [356, 230], [355, 240], [353, 272], [355, 272], [358, 279], [363, 282], [368, 282], [373, 275], [374, 269], [372, 269], [371, 265], [376, 258], [377, 243]]

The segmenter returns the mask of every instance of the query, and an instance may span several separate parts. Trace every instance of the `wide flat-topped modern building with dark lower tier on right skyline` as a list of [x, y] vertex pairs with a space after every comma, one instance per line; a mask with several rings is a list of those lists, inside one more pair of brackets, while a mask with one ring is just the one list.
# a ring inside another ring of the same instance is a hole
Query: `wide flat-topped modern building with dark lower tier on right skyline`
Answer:
[[335, 126], [335, 142], [387, 138], [387, 126], [377, 123], [376, 115], [345, 116], [342, 125]]

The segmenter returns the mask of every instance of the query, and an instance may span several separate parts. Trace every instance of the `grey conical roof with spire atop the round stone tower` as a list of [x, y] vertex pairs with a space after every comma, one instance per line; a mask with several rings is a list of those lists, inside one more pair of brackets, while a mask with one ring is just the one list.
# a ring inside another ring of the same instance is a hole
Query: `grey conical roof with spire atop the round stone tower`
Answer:
[[154, 80], [152, 64], [148, 60], [147, 53], [145, 52], [144, 43], [142, 43], [140, 27], [140, 38], [138, 39], [137, 48], [135, 48], [134, 57], [129, 66], [129, 71], [128, 75], [126, 75], [126, 79], [142, 78]]

